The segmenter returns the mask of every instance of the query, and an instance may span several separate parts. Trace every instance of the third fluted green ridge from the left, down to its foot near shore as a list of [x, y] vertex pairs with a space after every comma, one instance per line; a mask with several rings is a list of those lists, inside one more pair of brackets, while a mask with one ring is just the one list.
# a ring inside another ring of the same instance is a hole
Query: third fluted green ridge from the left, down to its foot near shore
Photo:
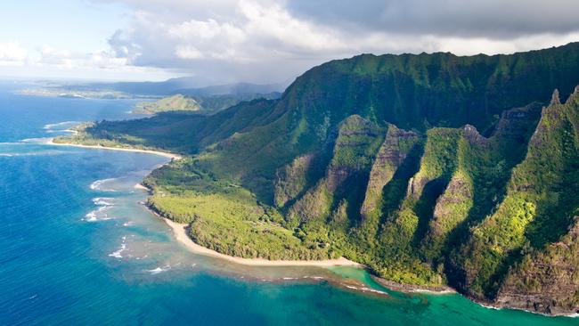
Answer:
[[384, 195], [390, 199], [396, 196], [388, 192], [404, 191], [397, 202], [388, 203], [378, 237], [382, 259], [388, 264], [396, 261], [380, 270], [387, 278], [404, 283], [420, 280], [421, 285], [429, 286], [443, 284], [442, 271], [421, 258], [419, 244], [432, 218], [436, 199], [456, 169], [460, 139], [461, 129], [429, 130], [420, 164], [413, 175], [408, 175], [410, 179], [404, 185], [385, 189]]

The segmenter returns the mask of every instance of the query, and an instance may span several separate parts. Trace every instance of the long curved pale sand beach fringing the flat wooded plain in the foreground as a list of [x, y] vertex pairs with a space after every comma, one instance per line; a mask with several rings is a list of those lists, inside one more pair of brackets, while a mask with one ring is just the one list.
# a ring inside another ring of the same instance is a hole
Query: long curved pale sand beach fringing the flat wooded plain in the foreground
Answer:
[[185, 228], [187, 224], [178, 224], [167, 218], [163, 218], [163, 221], [173, 230], [175, 234], [175, 239], [183, 244], [187, 249], [200, 255], [217, 257], [221, 259], [228, 260], [230, 262], [241, 264], [241, 265], [252, 265], [252, 266], [319, 266], [319, 267], [330, 267], [330, 266], [362, 266], [351, 260], [347, 260], [344, 257], [338, 259], [327, 259], [327, 260], [267, 260], [263, 258], [241, 258], [232, 257], [216, 252], [215, 250], [207, 249], [193, 242], [193, 240], [187, 235]]

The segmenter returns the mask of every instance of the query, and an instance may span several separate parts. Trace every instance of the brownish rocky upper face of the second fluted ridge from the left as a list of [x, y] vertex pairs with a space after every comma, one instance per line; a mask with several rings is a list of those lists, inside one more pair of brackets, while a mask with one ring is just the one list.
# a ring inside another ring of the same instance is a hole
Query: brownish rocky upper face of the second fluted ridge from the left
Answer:
[[394, 125], [388, 126], [386, 139], [380, 146], [371, 167], [368, 187], [360, 210], [363, 218], [377, 208], [382, 189], [392, 179], [396, 169], [404, 162], [409, 151], [419, 140], [419, 134], [399, 129]]

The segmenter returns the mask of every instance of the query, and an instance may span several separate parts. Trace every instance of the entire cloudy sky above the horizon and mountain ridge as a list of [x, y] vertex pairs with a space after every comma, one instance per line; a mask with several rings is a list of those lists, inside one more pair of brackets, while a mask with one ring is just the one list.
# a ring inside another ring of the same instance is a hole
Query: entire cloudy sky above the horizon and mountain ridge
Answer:
[[0, 77], [289, 83], [360, 53], [514, 53], [579, 41], [576, 0], [19, 0]]

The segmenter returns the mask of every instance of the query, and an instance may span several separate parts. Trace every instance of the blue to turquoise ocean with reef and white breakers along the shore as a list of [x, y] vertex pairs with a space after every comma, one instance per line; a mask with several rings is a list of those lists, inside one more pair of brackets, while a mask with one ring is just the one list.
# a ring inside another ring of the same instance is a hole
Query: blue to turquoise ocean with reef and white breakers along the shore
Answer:
[[579, 324], [387, 291], [352, 268], [194, 255], [134, 187], [165, 158], [45, 144], [74, 121], [135, 118], [134, 102], [12, 94], [18, 87], [0, 85], [0, 325]]

